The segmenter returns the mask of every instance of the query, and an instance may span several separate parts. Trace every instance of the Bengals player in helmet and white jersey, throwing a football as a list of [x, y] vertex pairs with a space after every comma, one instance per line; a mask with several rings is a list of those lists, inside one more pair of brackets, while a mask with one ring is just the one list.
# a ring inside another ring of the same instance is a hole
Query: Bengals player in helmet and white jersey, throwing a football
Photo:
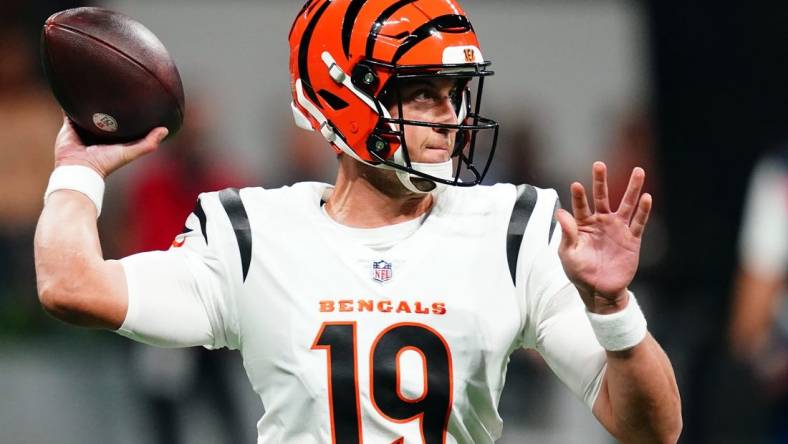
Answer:
[[241, 353], [259, 443], [489, 443], [509, 355], [539, 351], [622, 442], [676, 442], [678, 389], [635, 296], [645, 173], [618, 206], [480, 185], [492, 75], [455, 0], [310, 0], [289, 35], [291, 110], [335, 150], [333, 185], [202, 194], [168, 251], [102, 257], [104, 180], [153, 152], [84, 146], [69, 121], [35, 239], [67, 322]]

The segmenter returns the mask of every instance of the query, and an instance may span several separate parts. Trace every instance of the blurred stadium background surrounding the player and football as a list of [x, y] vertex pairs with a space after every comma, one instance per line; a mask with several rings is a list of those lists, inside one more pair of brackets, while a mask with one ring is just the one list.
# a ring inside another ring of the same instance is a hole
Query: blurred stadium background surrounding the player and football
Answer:
[[[730, 353], [727, 325], [748, 177], [788, 140], [788, 4], [462, 3], [497, 72], [485, 88], [503, 128], [488, 182], [566, 196], [601, 159], [620, 196], [644, 166], [656, 214], [635, 291], [678, 375], [681, 442], [786, 442], [774, 430], [788, 422], [788, 371], [764, 383]], [[0, 443], [254, 442], [262, 407], [237, 355], [153, 350], [38, 306], [32, 233], [61, 119], [38, 36], [49, 14], [84, 4], [5, 0], [0, 13]], [[291, 123], [286, 36], [300, 2], [89, 4], [153, 30], [188, 102], [179, 137], [109, 182], [108, 257], [166, 248], [199, 191], [332, 180], [331, 150]], [[529, 353], [512, 360], [501, 413], [503, 443], [611, 442]]]

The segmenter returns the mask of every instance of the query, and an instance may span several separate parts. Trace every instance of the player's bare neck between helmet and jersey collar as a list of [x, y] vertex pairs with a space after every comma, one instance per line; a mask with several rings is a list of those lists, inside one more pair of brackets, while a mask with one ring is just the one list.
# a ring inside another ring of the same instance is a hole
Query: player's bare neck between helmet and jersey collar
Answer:
[[377, 228], [422, 216], [432, 203], [431, 194], [406, 190], [393, 171], [342, 156], [334, 191], [326, 201], [326, 211], [342, 225]]

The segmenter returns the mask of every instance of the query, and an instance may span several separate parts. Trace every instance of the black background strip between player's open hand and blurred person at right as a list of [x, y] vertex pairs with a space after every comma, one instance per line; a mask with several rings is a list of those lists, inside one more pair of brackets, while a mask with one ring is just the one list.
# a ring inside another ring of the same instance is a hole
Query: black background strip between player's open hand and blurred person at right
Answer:
[[665, 341], [685, 365], [682, 441], [761, 442], [763, 394], [730, 359], [724, 331], [749, 172], [788, 140], [788, 4], [652, 1], [647, 10], [671, 239], [659, 281], [673, 319]]

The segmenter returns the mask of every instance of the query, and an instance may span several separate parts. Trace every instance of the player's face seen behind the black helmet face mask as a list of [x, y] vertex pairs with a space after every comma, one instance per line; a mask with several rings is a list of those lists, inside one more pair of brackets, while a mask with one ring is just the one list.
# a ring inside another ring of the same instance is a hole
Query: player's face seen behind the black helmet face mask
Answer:
[[[400, 85], [402, 118], [431, 123], [457, 124], [456, 98], [461, 90], [453, 79], [414, 79]], [[389, 109], [399, 117], [396, 106]], [[405, 142], [411, 162], [446, 162], [454, 149], [457, 130], [405, 125]]]

